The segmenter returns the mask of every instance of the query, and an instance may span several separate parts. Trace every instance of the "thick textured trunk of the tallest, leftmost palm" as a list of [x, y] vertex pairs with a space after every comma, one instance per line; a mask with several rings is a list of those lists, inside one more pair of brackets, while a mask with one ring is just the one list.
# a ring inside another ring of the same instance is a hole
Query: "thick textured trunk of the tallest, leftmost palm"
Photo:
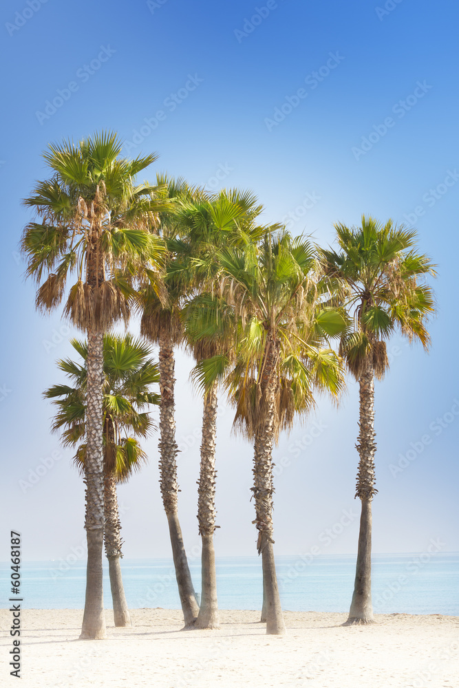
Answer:
[[85, 463], [85, 529], [87, 535], [86, 597], [80, 638], [105, 638], [102, 583], [104, 539], [103, 478], [103, 333], [87, 333], [87, 454]]

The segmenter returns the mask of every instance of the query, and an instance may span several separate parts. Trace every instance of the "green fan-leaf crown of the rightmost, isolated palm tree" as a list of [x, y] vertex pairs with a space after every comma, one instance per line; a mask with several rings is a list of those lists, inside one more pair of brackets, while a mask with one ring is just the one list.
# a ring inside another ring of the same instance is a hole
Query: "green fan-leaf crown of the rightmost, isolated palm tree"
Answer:
[[388, 367], [386, 341], [396, 327], [428, 348], [427, 317], [434, 296], [425, 282], [436, 275], [426, 255], [416, 252], [416, 232], [362, 217], [362, 226], [336, 224], [340, 251], [320, 250], [321, 265], [354, 321], [341, 341], [350, 372], [359, 379], [368, 358], [382, 378]]

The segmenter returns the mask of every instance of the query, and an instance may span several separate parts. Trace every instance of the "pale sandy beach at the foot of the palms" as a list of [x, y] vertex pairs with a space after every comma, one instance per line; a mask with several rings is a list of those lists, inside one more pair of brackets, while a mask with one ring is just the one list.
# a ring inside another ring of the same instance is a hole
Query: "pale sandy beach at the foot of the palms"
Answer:
[[459, 617], [285, 612], [288, 634], [267, 636], [259, 612], [221, 612], [219, 631], [182, 631], [181, 613], [131, 612], [134, 627], [78, 641], [78, 610], [23, 610], [21, 683], [10, 676], [11, 614], [0, 611], [2, 688], [459, 688]]

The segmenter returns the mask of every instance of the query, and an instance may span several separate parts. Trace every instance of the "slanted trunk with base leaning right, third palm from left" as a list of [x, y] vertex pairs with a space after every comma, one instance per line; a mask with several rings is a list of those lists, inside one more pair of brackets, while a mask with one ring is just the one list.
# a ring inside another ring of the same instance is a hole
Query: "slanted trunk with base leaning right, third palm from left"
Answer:
[[169, 523], [175, 577], [185, 626], [191, 625], [198, 616], [193, 581], [186, 559], [182, 530], [178, 521], [178, 446], [175, 442], [174, 356], [173, 343], [167, 335], [160, 336], [160, 486], [162, 503]]

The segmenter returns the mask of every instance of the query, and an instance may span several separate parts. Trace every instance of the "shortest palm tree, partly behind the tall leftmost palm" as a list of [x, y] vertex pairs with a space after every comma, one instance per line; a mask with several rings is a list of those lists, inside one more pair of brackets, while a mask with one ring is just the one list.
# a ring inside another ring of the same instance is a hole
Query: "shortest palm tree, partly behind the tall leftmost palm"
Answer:
[[[58, 407], [52, 430], [62, 432], [65, 447], [77, 447], [74, 460], [84, 475], [87, 343], [73, 339], [71, 344], [83, 358], [83, 365], [70, 359], [58, 361], [57, 365], [74, 386], [53, 385], [43, 396], [53, 399]], [[152, 394], [149, 387], [159, 381], [158, 366], [150, 355], [149, 348], [129, 334], [104, 336], [104, 539], [116, 626], [131, 625], [120, 567], [122, 539], [116, 484], [127, 482], [147, 458], [138, 438], [147, 437], [153, 424], [149, 413], [142, 409], [158, 404], [158, 395]]]

